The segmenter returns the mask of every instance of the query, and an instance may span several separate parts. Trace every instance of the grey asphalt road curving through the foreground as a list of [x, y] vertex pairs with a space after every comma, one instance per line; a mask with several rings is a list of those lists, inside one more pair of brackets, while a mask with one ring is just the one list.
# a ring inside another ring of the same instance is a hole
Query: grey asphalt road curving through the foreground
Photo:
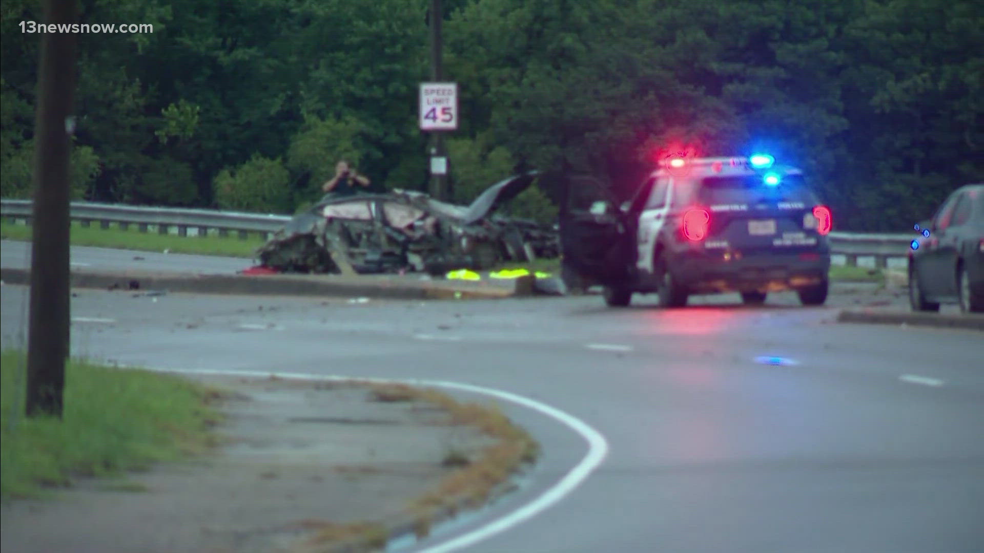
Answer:
[[[2, 343], [14, 345], [24, 288], [0, 290]], [[831, 303], [857, 296], [842, 289]], [[790, 294], [762, 308], [737, 295], [698, 303], [79, 290], [73, 347], [152, 367], [474, 384], [562, 409], [605, 437], [608, 457], [568, 497], [467, 551], [984, 549], [980, 333], [839, 325], [834, 309], [797, 307]], [[567, 426], [503, 407], [541, 442], [542, 460], [523, 490], [428, 544], [505, 516], [584, 458]]]

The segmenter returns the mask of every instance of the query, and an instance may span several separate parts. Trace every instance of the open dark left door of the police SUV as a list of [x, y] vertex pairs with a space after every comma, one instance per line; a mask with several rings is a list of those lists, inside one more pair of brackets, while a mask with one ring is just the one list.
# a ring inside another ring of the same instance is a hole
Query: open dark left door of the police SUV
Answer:
[[561, 276], [572, 289], [621, 282], [628, 276], [630, 227], [606, 187], [585, 178], [561, 184]]

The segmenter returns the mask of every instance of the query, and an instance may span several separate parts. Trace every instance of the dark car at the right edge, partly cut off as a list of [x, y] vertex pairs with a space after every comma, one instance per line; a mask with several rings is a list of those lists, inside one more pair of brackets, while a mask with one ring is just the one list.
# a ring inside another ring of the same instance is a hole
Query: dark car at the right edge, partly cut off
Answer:
[[909, 303], [914, 311], [939, 311], [956, 303], [964, 313], [984, 312], [984, 184], [958, 188], [909, 250]]

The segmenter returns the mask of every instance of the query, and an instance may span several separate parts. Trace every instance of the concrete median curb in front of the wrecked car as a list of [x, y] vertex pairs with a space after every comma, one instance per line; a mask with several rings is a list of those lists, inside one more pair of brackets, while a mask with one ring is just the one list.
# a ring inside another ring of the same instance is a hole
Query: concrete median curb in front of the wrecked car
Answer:
[[[29, 284], [31, 271], [0, 269], [8, 284]], [[136, 284], [135, 286], [132, 284]], [[521, 276], [495, 285], [457, 280], [395, 281], [335, 275], [187, 275], [177, 273], [73, 272], [73, 288], [156, 289], [172, 292], [245, 295], [362, 296], [379, 299], [497, 299], [529, 296], [534, 278]]]

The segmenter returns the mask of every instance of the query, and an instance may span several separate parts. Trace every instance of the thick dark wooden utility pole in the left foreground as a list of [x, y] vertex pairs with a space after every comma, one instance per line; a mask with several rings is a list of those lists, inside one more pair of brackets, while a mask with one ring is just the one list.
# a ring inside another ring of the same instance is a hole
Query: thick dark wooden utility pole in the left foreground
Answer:
[[[44, 0], [45, 25], [76, 22], [75, 0]], [[45, 32], [34, 115], [27, 415], [61, 417], [69, 355], [69, 152], [76, 36]]]

